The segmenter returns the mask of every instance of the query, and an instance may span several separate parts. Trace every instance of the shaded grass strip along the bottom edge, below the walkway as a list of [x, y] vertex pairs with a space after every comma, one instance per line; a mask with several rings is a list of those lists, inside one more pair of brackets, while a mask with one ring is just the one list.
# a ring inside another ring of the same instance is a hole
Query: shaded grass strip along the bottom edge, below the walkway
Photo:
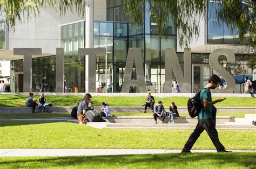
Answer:
[[256, 153], [0, 157], [0, 161], [0, 168], [256, 168]]

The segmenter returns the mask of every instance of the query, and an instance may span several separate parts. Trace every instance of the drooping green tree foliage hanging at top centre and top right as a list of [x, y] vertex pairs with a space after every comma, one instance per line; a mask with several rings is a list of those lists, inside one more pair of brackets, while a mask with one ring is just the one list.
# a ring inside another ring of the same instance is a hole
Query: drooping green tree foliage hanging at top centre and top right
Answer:
[[[175, 20], [180, 46], [188, 47], [194, 37], [199, 36], [199, 19], [207, 15], [207, 0], [124, 0], [125, 12], [130, 20], [140, 25], [142, 23], [145, 3], [150, 4], [151, 19], [157, 20], [159, 36], [166, 32], [169, 15]], [[216, 8], [219, 24], [225, 22], [233, 33], [237, 28], [242, 43], [255, 46], [256, 36], [256, 0], [212, 0], [221, 3]], [[143, 9], [143, 10], [142, 10]]]

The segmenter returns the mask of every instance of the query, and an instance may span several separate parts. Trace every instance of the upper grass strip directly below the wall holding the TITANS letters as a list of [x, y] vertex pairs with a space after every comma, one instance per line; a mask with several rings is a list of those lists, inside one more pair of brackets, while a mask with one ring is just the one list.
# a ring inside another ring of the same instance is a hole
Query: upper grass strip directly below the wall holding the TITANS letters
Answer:
[[[132, 95], [132, 94], [131, 94]], [[24, 107], [28, 95], [0, 95], [0, 107]], [[34, 100], [39, 96], [34, 96]], [[213, 97], [213, 100], [217, 97]], [[80, 102], [82, 96], [46, 96], [46, 102], [51, 102], [53, 106], [74, 106]], [[94, 96], [93, 104], [99, 106], [105, 102], [110, 106], [140, 106], [145, 103], [145, 97], [118, 97], [118, 96]], [[175, 102], [178, 107], [187, 106], [188, 97], [155, 97], [155, 101], [163, 101], [165, 106]], [[251, 97], [227, 97], [223, 102], [215, 104], [216, 106], [230, 107], [252, 107], [256, 105], [256, 99]]]

